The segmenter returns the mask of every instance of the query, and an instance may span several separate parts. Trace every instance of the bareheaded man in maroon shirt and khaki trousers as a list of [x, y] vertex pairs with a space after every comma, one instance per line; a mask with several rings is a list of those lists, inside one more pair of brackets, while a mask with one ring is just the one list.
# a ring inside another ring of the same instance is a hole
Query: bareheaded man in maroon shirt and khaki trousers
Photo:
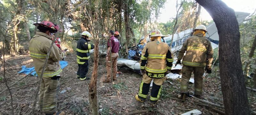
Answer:
[[[116, 72], [117, 72], [117, 58], [118, 58], [118, 51], [119, 51], [119, 41], [116, 39], [114, 36], [114, 31], [110, 30], [110, 38], [108, 39], [108, 50], [107, 50], [107, 56], [106, 56], [106, 61], [107, 61], [107, 79], [105, 79], [104, 82], [111, 82], [111, 64], [112, 64], [112, 72], [113, 72], [113, 80], [116, 80]], [[111, 51], [111, 52], [110, 52]], [[110, 53], [112, 56], [112, 60], [110, 57]]]

